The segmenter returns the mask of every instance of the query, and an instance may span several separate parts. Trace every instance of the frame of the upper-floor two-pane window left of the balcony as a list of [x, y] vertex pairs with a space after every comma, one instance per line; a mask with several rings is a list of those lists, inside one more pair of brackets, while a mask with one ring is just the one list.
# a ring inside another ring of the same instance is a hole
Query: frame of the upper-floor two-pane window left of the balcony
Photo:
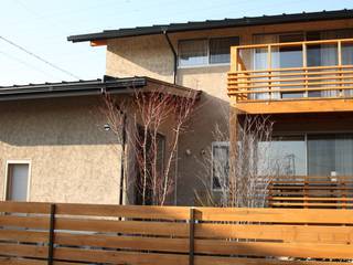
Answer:
[[[213, 38], [197, 38], [197, 39], [183, 39], [178, 41], [178, 68], [202, 68], [202, 67], [216, 67], [216, 66], [228, 66], [231, 65], [231, 62], [228, 63], [210, 63], [211, 54], [210, 54], [210, 43], [211, 40], [220, 40], [220, 39], [232, 39], [236, 38], [238, 40], [238, 44], [240, 43], [240, 36], [238, 35], [232, 35], [232, 36], [213, 36]], [[180, 45], [182, 42], [188, 42], [188, 41], [206, 41], [207, 45], [207, 63], [206, 64], [195, 64], [195, 65], [180, 65]]]

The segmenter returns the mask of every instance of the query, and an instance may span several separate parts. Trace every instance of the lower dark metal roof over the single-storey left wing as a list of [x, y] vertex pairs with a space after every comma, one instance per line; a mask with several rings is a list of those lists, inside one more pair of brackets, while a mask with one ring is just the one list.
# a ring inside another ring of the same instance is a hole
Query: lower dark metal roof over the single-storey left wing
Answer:
[[193, 92], [191, 88], [145, 76], [126, 78], [105, 76], [104, 80], [0, 86], [0, 102], [101, 95], [103, 93], [130, 94], [139, 88], [148, 86], [153, 87], [152, 85], [159, 85], [159, 87], [162, 86], [163, 88], [169, 88], [168, 92], [175, 95], [186, 95], [186, 93]]

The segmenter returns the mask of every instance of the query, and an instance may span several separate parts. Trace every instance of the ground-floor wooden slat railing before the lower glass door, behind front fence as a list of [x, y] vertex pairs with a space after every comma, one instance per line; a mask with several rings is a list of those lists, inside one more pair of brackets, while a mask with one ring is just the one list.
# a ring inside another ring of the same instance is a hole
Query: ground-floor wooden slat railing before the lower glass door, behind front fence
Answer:
[[352, 177], [276, 177], [268, 187], [271, 208], [353, 209]]

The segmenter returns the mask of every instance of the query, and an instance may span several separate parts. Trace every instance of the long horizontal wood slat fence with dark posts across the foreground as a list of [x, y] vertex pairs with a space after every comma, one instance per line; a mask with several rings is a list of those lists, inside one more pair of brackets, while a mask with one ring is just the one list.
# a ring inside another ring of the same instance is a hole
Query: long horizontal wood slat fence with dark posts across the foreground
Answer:
[[352, 210], [0, 202], [0, 265], [352, 261]]

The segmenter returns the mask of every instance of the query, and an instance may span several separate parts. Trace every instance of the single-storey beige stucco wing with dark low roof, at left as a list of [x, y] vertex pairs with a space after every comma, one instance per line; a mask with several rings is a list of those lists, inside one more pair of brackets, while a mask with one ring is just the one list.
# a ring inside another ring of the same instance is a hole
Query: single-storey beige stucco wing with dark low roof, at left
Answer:
[[1, 87], [1, 199], [124, 203], [124, 144], [107, 127], [105, 95], [127, 99], [159, 87], [175, 97], [191, 91], [149, 77], [108, 76]]

